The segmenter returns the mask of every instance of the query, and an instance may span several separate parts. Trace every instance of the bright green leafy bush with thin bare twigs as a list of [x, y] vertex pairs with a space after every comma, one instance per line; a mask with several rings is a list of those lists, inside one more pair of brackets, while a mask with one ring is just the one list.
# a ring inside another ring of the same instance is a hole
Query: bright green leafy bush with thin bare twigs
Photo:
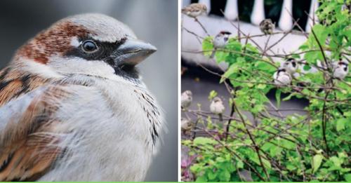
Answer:
[[[351, 181], [350, 76], [331, 77], [332, 62], [350, 57], [351, 18], [344, 4], [350, 7], [349, 0], [322, 1], [317, 10], [322, 24], [312, 27], [296, 53], [268, 55], [239, 38], [216, 51], [217, 62], [228, 65], [220, 83], [230, 83], [232, 112], [223, 123], [215, 123], [215, 115], [200, 115], [199, 105], [194, 130], [206, 135], [182, 140], [194, 159], [182, 167], [183, 173], [190, 172], [196, 181]], [[212, 41], [210, 36], [204, 39], [205, 55], [211, 55]], [[272, 75], [279, 63], [272, 57], [300, 61], [302, 69], [290, 86], [274, 86]], [[311, 72], [312, 67], [317, 72]], [[276, 115], [267, 97], [272, 90]], [[286, 97], [281, 99], [282, 93]], [[280, 116], [280, 102], [293, 97], [309, 101], [306, 114]], [[190, 174], [183, 174], [183, 179]]]

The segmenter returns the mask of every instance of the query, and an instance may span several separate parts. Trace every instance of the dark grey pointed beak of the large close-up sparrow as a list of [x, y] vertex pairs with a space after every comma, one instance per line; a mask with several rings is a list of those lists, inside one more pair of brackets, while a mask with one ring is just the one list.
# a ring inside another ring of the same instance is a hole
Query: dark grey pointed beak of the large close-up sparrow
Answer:
[[150, 43], [145, 43], [137, 39], [128, 39], [114, 51], [114, 64], [117, 66], [135, 66], [156, 50], [157, 48]]

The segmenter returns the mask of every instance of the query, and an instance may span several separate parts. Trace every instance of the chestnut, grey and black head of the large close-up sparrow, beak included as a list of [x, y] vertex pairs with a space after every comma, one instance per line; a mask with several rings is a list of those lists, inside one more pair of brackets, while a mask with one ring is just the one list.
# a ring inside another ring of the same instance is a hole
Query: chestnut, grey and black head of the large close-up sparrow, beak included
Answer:
[[15, 62], [35, 63], [63, 76], [138, 79], [135, 65], [156, 50], [114, 18], [82, 14], [59, 20], [37, 34], [18, 50]]

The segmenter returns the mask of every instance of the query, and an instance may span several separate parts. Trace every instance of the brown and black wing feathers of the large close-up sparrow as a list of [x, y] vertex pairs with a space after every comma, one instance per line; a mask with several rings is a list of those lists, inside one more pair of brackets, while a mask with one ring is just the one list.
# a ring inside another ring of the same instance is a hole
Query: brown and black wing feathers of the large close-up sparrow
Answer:
[[[0, 73], [0, 107], [45, 82], [24, 76], [15, 79], [8, 71]], [[48, 101], [53, 101], [49, 97], [67, 94], [58, 86], [50, 87], [32, 100], [21, 118], [13, 118], [6, 124], [0, 134], [0, 181], [33, 181], [50, 170], [62, 152], [57, 146], [62, 135], [55, 135], [53, 131], [55, 123], [60, 123], [53, 119], [57, 104]]]

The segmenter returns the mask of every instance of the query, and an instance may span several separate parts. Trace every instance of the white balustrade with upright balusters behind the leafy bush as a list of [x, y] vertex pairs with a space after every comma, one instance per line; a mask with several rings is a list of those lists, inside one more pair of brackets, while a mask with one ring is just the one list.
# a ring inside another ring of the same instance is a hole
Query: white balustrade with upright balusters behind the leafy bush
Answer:
[[[211, 11], [211, 1], [210, 0], [199, 0], [199, 3], [206, 4], [208, 7], [208, 13]], [[317, 0], [312, 0], [310, 8], [310, 15], [307, 20], [307, 25], [305, 27], [306, 32], [310, 32], [310, 26], [312, 25], [312, 20], [310, 18], [316, 19], [316, 15], [314, 15], [315, 10], [317, 10], [318, 3]], [[187, 6], [190, 4], [190, 0], [183, 0], [182, 6]], [[282, 6], [281, 18], [279, 18], [279, 22], [276, 22], [276, 29], [274, 32], [289, 30], [293, 26], [293, 18], [291, 18], [291, 13], [293, 9], [293, 0], [284, 0]], [[237, 0], [227, 0], [224, 8], [224, 16], [228, 20], [234, 21], [237, 20], [239, 16], [238, 10], [238, 2]], [[307, 15], [306, 15], [307, 16]], [[242, 32], [250, 35], [262, 34], [258, 25], [262, 20], [265, 19], [265, 6], [264, 0], [255, 0], [253, 2], [253, 11], [251, 13], [251, 22], [229, 22], [225, 18], [218, 16], [201, 16], [199, 17], [199, 21], [201, 22], [208, 34], [215, 36], [218, 32], [222, 30], [226, 30], [232, 32], [232, 36], [237, 36], [237, 29], [234, 28], [232, 23], [235, 25], [240, 23], [240, 29]], [[189, 18], [186, 15], [182, 16], [182, 26], [192, 33], [195, 33], [199, 36], [207, 36], [206, 32], [194, 22], [193, 18]], [[190, 32], [182, 29], [182, 50], [186, 50], [188, 52], [182, 52], [182, 57], [186, 62], [197, 62], [202, 63], [204, 65], [211, 65], [216, 67], [216, 64], [211, 60], [208, 60], [208, 57], [204, 57], [203, 54], [194, 54], [196, 52], [201, 52], [202, 46], [194, 34], [190, 34]], [[252, 38], [259, 46], [264, 47], [267, 42], [268, 36], [260, 36]], [[298, 47], [306, 41], [306, 37], [301, 34], [289, 34], [284, 38], [284, 40], [279, 41], [279, 43], [274, 44], [282, 37], [282, 34], [274, 34], [270, 36], [270, 41], [267, 43], [267, 46], [272, 46], [271, 50], [274, 53], [292, 53], [298, 50]], [[251, 42], [251, 41], [249, 41]], [[273, 45], [274, 44], [274, 45]], [[190, 53], [193, 52], [193, 53]], [[274, 58], [275, 60], [275, 58]], [[279, 59], [276, 61], [279, 62]], [[226, 67], [223, 65], [223, 67]]]

